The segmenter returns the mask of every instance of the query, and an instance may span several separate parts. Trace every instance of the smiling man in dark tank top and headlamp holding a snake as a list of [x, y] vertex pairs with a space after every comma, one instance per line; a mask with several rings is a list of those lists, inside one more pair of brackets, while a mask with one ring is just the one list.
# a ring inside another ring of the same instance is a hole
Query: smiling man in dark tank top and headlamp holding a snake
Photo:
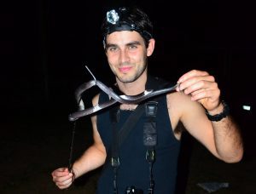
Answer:
[[[155, 87], [153, 83], [160, 84], [148, 76], [147, 58], [154, 52], [155, 40], [152, 24], [143, 11], [136, 8], [111, 10], [102, 31], [108, 64], [121, 93], [141, 94]], [[180, 77], [177, 83], [177, 92], [153, 99], [157, 112], [151, 123], [157, 124], [153, 127], [157, 143], [155, 139], [154, 145], [148, 148], [143, 142], [147, 128], [152, 129], [144, 127], [148, 119], [144, 112], [123, 143], [114, 144], [113, 126], [121, 128], [139, 106], [120, 105], [119, 120], [115, 122], [110, 118], [113, 111], [103, 111], [91, 117], [94, 144], [73, 163], [73, 172], [58, 168], [52, 173], [55, 184], [60, 189], [67, 188], [74, 179], [104, 164], [97, 193], [173, 193], [182, 135], [176, 130], [179, 123], [215, 157], [226, 163], [239, 162], [243, 154], [239, 129], [229, 115], [228, 106], [220, 100], [214, 77], [206, 71], [193, 70]], [[108, 95], [101, 93], [93, 99], [93, 105], [108, 100]]]

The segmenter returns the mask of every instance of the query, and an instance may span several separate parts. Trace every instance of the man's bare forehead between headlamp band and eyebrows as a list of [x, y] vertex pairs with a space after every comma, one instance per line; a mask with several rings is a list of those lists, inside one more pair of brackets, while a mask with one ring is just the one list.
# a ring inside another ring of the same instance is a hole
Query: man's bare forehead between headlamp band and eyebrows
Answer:
[[114, 31], [107, 37], [108, 44], [143, 43], [143, 37], [137, 31]]

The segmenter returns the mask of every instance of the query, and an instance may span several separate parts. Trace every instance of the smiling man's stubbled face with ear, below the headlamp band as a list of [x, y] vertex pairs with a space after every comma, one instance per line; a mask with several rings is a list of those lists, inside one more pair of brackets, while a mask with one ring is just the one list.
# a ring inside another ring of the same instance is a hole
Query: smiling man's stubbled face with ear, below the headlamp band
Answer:
[[148, 48], [137, 31], [115, 31], [108, 35], [106, 54], [113, 74], [123, 83], [137, 80], [147, 68], [147, 57], [153, 53], [154, 39]]

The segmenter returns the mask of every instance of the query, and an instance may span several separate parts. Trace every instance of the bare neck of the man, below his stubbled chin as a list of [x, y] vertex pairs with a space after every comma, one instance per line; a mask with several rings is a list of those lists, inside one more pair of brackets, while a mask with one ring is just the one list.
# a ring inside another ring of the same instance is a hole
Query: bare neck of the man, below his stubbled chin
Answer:
[[116, 80], [119, 86], [119, 90], [126, 95], [137, 95], [143, 93], [145, 90], [147, 82], [147, 71], [144, 71], [143, 74], [137, 78], [132, 83], [122, 83], [119, 79]]

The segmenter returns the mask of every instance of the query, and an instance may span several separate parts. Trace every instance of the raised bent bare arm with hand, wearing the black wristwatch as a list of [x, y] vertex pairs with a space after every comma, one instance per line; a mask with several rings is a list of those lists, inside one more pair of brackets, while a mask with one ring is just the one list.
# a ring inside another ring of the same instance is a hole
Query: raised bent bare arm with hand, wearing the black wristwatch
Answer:
[[[220, 90], [214, 77], [206, 71], [189, 71], [178, 80], [184, 95], [180, 119], [190, 134], [207, 147], [216, 157], [227, 163], [236, 163], [243, 154], [239, 128], [230, 116], [211, 122], [205, 109], [216, 115], [223, 111], [219, 101]], [[185, 97], [186, 96], [186, 97]]]

